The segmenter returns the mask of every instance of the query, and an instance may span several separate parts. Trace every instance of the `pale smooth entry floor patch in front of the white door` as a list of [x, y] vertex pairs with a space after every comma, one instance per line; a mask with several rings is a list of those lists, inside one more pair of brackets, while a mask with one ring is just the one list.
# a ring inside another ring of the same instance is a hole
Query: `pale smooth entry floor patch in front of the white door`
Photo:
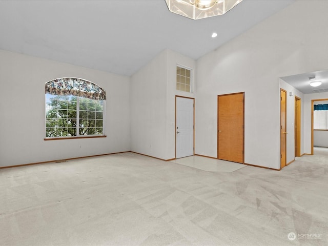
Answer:
[[208, 172], [234, 172], [240, 168], [245, 167], [245, 165], [240, 163], [218, 160], [198, 155], [175, 159], [171, 162]]

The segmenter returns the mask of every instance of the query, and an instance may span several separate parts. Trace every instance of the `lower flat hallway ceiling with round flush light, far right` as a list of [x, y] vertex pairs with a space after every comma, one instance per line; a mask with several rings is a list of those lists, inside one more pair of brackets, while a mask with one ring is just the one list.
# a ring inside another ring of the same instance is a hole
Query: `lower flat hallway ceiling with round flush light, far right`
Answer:
[[[321, 85], [318, 87], [310, 86], [310, 77], [316, 77], [315, 80], [320, 80]], [[311, 94], [318, 92], [328, 92], [328, 70], [315, 71], [297, 75], [281, 77], [286, 83], [290, 84], [303, 94]]]

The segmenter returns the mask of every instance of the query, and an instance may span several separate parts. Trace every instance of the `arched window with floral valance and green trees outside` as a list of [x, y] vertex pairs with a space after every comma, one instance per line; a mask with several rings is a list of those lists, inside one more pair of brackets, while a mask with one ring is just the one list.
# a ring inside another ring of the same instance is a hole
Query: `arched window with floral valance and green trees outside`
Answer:
[[46, 138], [104, 136], [106, 91], [80, 78], [46, 83]]

